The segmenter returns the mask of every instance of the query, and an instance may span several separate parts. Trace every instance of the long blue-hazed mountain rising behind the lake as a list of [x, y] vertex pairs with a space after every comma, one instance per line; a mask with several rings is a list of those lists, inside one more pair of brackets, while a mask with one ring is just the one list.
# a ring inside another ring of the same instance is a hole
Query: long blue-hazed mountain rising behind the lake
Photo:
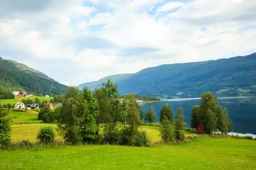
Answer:
[[[199, 97], [207, 91], [218, 96], [252, 95], [256, 94], [255, 68], [256, 53], [253, 53], [229, 59], [164, 64], [145, 68], [122, 79], [115, 75], [115, 82], [120, 94], [135, 92], [162, 98]], [[112, 80], [109, 76], [99, 81], [106, 82], [108, 78]], [[98, 85], [98, 81], [93, 84]], [[90, 89], [94, 87], [89, 86]]]

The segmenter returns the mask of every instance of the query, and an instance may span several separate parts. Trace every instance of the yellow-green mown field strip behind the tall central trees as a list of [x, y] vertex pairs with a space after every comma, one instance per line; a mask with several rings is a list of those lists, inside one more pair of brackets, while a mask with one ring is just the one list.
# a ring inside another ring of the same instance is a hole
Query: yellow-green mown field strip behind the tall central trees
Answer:
[[[37, 115], [36, 115], [37, 116]], [[56, 124], [47, 124], [47, 123], [41, 123], [41, 124], [19, 124], [19, 125], [12, 125], [12, 131], [11, 131], [11, 139], [12, 143], [17, 143], [18, 141], [22, 140], [29, 140], [30, 142], [36, 142], [36, 135], [38, 134], [38, 131], [41, 127], [45, 126], [52, 126], [54, 129], [57, 127]], [[148, 136], [150, 137], [152, 142], [160, 141], [159, 137], [159, 127], [142, 127], [143, 130], [145, 130], [148, 133]], [[57, 137], [56, 139], [62, 139], [60, 136], [58, 136], [58, 133], [55, 131]]]

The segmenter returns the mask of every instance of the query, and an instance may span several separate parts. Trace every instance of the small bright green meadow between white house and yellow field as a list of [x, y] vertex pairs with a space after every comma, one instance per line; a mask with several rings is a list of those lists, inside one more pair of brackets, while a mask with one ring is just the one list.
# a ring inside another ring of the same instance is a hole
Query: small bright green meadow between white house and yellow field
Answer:
[[38, 115], [35, 111], [19, 112], [19, 111], [10, 111], [8, 117], [12, 118], [12, 123], [41, 123], [41, 120], [38, 120]]

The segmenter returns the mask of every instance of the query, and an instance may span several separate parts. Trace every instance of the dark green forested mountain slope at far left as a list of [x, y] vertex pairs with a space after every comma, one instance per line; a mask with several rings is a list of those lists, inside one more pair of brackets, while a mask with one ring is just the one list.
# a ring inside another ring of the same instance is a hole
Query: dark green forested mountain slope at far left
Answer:
[[64, 94], [68, 86], [25, 64], [0, 57], [0, 87], [10, 92], [15, 90], [45, 95]]

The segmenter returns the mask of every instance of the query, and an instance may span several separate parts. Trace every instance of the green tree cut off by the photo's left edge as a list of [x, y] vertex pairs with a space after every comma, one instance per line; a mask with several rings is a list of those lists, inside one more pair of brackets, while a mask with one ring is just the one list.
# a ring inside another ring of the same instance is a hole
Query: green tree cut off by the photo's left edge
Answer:
[[8, 111], [0, 108], [0, 146], [6, 146], [10, 142], [11, 137], [11, 119]]

